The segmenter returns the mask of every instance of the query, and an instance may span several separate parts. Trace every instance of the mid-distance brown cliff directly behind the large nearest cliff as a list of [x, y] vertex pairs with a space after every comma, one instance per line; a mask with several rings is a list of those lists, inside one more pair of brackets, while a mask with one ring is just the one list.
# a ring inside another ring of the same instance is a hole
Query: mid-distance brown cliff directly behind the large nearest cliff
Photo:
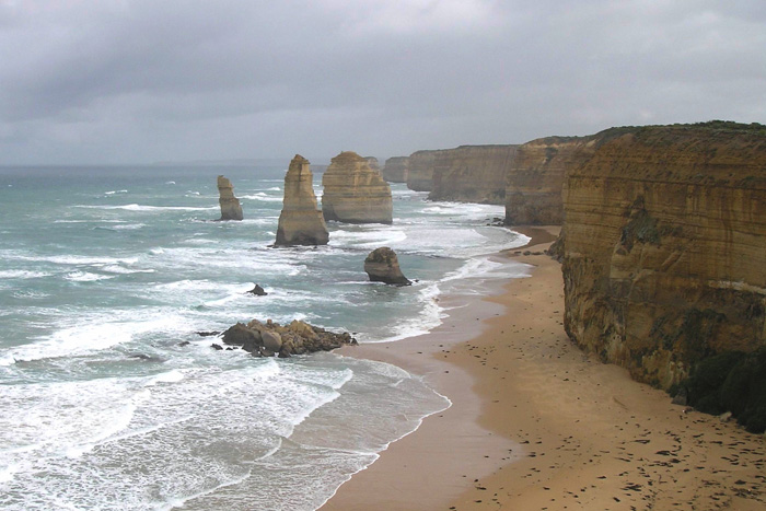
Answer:
[[[519, 147], [506, 174], [506, 224], [564, 222], [565, 171], [581, 163], [589, 137], [547, 137]], [[578, 161], [580, 160], [580, 161]]]

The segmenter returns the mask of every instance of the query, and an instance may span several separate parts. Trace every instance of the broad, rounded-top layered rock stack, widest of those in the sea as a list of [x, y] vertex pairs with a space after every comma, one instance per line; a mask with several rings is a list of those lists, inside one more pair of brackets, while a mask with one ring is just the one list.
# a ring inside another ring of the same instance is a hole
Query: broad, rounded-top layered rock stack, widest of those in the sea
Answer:
[[391, 223], [391, 186], [367, 160], [352, 151], [335, 156], [322, 177], [325, 220], [348, 223]]

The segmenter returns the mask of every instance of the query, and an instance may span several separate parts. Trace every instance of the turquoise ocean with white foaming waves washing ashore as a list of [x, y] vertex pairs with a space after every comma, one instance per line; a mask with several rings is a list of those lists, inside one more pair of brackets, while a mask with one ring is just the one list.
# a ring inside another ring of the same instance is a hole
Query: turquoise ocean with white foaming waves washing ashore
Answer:
[[[488, 225], [502, 207], [401, 184], [392, 225], [272, 248], [286, 166], [0, 169], [0, 508], [313, 510], [450, 406], [391, 364], [198, 335], [298, 318], [407, 342], [440, 295], [524, 275], [490, 257], [526, 241]], [[219, 174], [245, 220], [216, 221]], [[379, 246], [414, 286], [368, 281]]]

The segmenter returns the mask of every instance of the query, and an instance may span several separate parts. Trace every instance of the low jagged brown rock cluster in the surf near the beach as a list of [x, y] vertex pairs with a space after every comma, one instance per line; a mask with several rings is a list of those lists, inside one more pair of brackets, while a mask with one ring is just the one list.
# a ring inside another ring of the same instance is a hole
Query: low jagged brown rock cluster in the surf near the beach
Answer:
[[357, 340], [347, 332], [336, 334], [302, 321], [280, 325], [271, 320], [262, 323], [253, 320], [246, 325], [237, 323], [223, 333], [222, 340], [239, 346], [254, 357], [291, 357], [293, 355], [329, 351]]

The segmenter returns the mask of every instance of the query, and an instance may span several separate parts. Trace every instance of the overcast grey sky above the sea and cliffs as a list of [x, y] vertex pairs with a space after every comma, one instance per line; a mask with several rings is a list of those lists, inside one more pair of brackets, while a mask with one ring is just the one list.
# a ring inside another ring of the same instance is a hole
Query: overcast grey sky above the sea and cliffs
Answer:
[[0, 164], [766, 124], [764, 0], [0, 0]]

